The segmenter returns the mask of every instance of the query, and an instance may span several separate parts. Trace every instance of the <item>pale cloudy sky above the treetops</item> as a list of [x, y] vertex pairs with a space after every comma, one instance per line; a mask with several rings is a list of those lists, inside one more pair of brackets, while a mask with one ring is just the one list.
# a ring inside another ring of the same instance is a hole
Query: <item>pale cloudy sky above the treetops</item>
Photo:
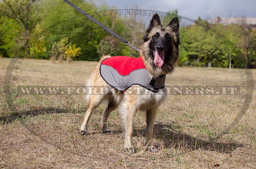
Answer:
[[178, 14], [190, 19], [210, 19], [214, 17], [256, 17], [256, 0], [95, 0], [105, 2], [116, 9], [132, 8], [168, 12], [177, 8]]

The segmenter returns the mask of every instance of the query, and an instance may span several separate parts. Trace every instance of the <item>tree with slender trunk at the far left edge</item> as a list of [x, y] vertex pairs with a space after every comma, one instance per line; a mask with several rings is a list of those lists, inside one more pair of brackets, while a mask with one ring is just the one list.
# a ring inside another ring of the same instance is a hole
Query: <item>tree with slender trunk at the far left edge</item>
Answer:
[[15, 20], [23, 32], [21, 42], [29, 58], [30, 34], [42, 17], [38, 13], [38, 2], [40, 0], [3, 0], [0, 2], [0, 14]]

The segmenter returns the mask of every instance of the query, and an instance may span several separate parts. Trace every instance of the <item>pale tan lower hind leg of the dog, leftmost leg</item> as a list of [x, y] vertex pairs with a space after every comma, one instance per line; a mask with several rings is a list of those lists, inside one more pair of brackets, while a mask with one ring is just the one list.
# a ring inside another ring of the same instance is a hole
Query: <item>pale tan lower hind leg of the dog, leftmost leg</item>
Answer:
[[87, 108], [87, 111], [85, 112], [84, 121], [80, 128], [81, 135], [85, 135], [86, 130], [87, 130], [87, 124], [90, 119], [90, 115], [93, 112], [93, 110], [100, 104], [102, 99], [103, 99], [102, 95], [90, 96], [89, 106]]

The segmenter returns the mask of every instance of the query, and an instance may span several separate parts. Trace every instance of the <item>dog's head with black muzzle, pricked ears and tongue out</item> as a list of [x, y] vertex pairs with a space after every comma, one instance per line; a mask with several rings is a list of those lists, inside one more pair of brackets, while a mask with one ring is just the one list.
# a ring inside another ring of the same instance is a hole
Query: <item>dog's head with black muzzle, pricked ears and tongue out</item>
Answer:
[[141, 55], [152, 69], [170, 73], [179, 56], [179, 20], [174, 17], [163, 28], [158, 14], [154, 14], [141, 44]]

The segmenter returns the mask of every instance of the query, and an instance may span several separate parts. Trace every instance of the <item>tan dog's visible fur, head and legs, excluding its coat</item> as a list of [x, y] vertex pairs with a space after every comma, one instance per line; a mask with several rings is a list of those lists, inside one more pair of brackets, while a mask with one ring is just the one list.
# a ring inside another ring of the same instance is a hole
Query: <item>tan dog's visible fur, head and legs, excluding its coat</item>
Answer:
[[[175, 63], [179, 56], [180, 44], [179, 39], [179, 21], [175, 17], [171, 20], [166, 28], [163, 28], [160, 23], [160, 17], [157, 14], [151, 19], [148, 29], [143, 37], [143, 42], [140, 46], [140, 57], [143, 60], [145, 69], [148, 71], [148, 76], [152, 81], [157, 80], [159, 77], [172, 73]], [[103, 56], [100, 60], [102, 62], [111, 56]], [[111, 57], [115, 58], [117, 56]], [[122, 114], [125, 126], [125, 149], [130, 153], [134, 153], [134, 148], [131, 144], [133, 135], [133, 121], [134, 114], [137, 110], [146, 112], [147, 133], [145, 144], [151, 152], [157, 152], [157, 149], [152, 144], [154, 121], [157, 115], [157, 109], [160, 104], [166, 99], [166, 88], [161, 87], [157, 91], [151, 91], [143, 88], [143, 85], [131, 85], [130, 87], [119, 92], [118, 89], [113, 88], [103, 79], [100, 73], [101, 64], [94, 68], [93, 73], [87, 83], [91, 87], [105, 87], [108, 88], [108, 93], [99, 95], [88, 95], [88, 109], [85, 113], [84, 122], [81, 126], [80, 132], [82, 135], [87, 130], [87, 124], [93, 110], [103, 101], [108, 101], [108, 107], [102, 114], [102, 130], [103, 132], [111, 132], [108, 130], [108, 116], [119, 105], [119, 111]], [[140, 77], [143, 79], [143, 77]], [[165, 79], [164, 79], [165, 80]], [[163, 82], [164, 83], [164, 82]], [[145, 91], [146, 94], [139, 91]]]

